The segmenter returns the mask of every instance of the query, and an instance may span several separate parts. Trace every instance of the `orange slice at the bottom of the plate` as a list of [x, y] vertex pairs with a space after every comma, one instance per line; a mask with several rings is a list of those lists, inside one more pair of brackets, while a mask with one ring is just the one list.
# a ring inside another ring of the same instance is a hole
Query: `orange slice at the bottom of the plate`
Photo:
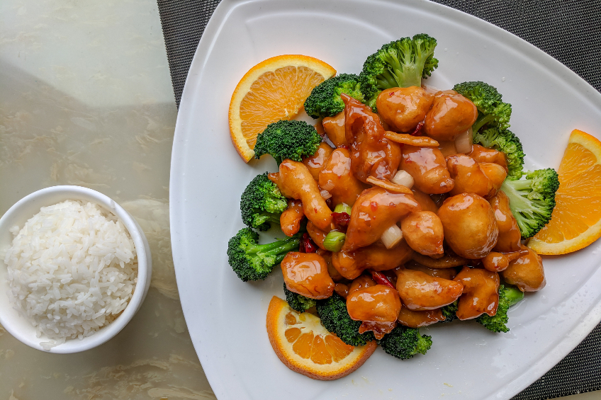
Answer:
[[376, 342], [353, 347], [308, 312], [298, 313], [274, 296], [267, 310], [267, 334], [278, 358], [294, 372], [313, 379], [346, 377], [376, 350]]

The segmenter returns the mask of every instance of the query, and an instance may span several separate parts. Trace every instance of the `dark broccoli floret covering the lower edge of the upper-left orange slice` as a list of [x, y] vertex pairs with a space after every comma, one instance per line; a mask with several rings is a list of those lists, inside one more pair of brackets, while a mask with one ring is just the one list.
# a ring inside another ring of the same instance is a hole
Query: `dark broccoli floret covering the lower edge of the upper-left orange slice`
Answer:
[[303, 161], [303, 157], [313, 156], [322, 142], [315, 127], [304, 121], [279, 120], [267, 125], [257, 136], [254, 157], [271, 154], [278, 165], [285, 159]]

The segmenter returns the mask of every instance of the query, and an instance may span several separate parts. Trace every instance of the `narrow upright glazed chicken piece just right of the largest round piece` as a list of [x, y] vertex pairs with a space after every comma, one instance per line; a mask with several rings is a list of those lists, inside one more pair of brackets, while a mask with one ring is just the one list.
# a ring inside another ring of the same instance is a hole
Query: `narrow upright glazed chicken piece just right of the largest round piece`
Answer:
[[522, 233], [519, 232], [517, 221], [509, 207], [509, 198], [500, 190], [497, 195], [488, 200], [490, 207], [493, 208], [495, 221], [499, 228], [499, 239], [495, 244], [494, 250], [501, 253], [509, 251], [518, 251], [522, 248]]

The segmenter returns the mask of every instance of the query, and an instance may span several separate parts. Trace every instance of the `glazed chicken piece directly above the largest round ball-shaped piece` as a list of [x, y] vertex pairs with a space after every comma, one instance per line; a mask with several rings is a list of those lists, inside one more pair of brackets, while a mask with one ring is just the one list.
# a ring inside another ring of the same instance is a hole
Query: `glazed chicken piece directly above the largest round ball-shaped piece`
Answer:
[[451, 196], [461, 193], [476, 193], [483, 198], [497, 194], [507, 172], [494, 163], [478, 163], [470, 156], [455, 154], [446, 157], [446, 168], [455, 181]]

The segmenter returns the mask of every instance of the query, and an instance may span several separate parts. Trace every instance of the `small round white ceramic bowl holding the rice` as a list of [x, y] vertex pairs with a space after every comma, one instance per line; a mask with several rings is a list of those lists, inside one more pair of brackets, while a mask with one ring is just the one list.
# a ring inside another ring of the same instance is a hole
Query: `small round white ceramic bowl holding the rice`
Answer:
[[69, 339], [61, 345], [57, 345], [50, 350], [44, 350], [40, 342], [47, 341], [45, 336], [38, 338], [35, 328], [29, 321], [18, 314], [13, 304], [9, 303], [9, 297], [6, 293], [9, 290], [9, 284], [6, 280], [6, 264], [4, 259], [0, 260], [0, 324], [9, 331], [11, 335], [19, 341], [38, 350], [49, 351], [50, 353], [79, 353], [89, 350], [116, 336], [132, 319], [142, 302], [144, 301], [150, 287], [150, 276], [152, 275], [152, 258], [150, 256], [150, 247], [146, 236], [135, 219], [116, 202], [102, 193], [96, 192], [81, 186], [52, 186], [38, 190], [27, 195], [16, 202], [4, 216], [0, 218], [0, 249], [5, 250], [11, 246], [13, 234], [9, 232], [11, 227], [18, 225], [23, 227], [25, 222], [40, 212], [40, 207], [55, 205], [64, 200], [83, 200], [95, 202], [104, 210], [111, 212], [119, 217], [125, 228], [128, 229], [135, 251], [137, 253], [137, 283], [133, 296], [125, 310], [120, 316], [107, 326], [104, 326], [96, 333], [83, 339]]

